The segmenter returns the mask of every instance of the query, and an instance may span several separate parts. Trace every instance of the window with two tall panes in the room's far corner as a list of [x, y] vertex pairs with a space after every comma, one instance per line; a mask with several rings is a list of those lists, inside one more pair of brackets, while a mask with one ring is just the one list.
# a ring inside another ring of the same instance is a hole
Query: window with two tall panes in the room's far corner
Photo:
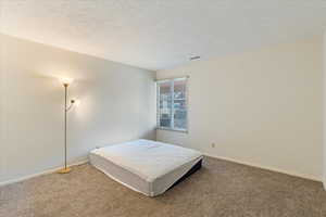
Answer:
[[160, 80], [158, 84], [158, 127], [187, 131], [187, 78]]

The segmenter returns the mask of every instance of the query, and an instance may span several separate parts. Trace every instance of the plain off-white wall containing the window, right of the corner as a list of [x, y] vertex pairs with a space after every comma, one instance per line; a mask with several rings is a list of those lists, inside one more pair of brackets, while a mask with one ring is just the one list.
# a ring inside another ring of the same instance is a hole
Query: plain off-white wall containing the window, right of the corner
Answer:
[[159, 79], [190, 75], [189, 133], [156, 139], [322, 180], [322, 56], [314, 37], [160, 71]]

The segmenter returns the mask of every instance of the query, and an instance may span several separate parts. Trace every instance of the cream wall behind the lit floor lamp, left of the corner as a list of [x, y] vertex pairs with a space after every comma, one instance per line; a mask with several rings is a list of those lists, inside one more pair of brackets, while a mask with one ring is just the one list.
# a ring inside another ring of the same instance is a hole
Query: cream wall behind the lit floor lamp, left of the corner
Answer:
[[64, 89], [80, 104], [68, 114], [68, 162], [90, 150], [137, 138], [155, 139], [154, 73], [0, 35], [0, 183], [63, 164]]

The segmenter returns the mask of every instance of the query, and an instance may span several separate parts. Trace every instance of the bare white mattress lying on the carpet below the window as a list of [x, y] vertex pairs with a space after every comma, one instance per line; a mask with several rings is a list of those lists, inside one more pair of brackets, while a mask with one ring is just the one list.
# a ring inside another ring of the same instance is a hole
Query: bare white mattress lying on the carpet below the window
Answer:
[[113, 144], [90, 152], [90, 163], [112, 179], [155, 196], [165, 192], [200, 159], [198, 151], [151, 140]]

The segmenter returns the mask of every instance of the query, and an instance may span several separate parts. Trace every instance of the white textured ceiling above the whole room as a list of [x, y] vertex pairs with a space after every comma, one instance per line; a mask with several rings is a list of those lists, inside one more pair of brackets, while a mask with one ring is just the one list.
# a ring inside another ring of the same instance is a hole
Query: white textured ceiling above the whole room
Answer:
[[1, 31], [150, 69], [318, 35], [325, 0], [0, 0]]

